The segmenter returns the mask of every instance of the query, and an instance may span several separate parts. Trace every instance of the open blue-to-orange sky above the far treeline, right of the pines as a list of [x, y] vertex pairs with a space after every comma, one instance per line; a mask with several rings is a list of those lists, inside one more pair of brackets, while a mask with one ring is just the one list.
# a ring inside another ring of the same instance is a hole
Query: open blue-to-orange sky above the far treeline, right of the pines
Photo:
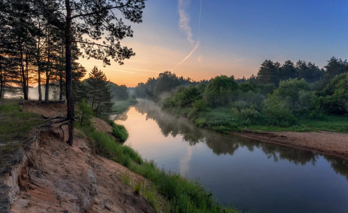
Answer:
[[265, 59], [321, 68], [332, 56], [348, 58], [347, 0], [148, 0], [145, 6], [143, 23], [131, 23], [133, 38], [121, 41], [134, 57], [121, 66], [78, 62], [134, 87], [167, 70], [193, 80], [238, 78], [256, 74]]

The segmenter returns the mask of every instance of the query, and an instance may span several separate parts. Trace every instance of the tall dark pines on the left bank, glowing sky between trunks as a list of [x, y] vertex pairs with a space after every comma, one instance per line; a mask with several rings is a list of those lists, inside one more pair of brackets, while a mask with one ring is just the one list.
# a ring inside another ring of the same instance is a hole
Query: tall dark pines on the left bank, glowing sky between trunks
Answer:
[[0, 97], [21, 91], [27, 100], [30, 83], [37, 82], [39, 99], [44, 84], [48, 100], [49, 88], [58, 87], [67, 115], [55, 122], [69, 126], [67, 143], [72, 145], [73, 97], [86, 73], [76, 60], [92, 57], [110, 65], [110, 58], [123, 64], [134, 56], [132, 48], [120, 43], [133, 36], [122, 17], [141, 23], [144, 8], [145, 0], [0, 1]]

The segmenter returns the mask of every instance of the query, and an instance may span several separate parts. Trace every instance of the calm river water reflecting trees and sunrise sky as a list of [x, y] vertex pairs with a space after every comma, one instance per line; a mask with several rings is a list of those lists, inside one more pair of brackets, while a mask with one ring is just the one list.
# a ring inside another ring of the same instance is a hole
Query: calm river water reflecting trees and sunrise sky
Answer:
[[115, 122], [142, 157], [199, 178], [224, 205], [257, 213], [348, 212], [347, 160], [197, 128], [149, 101]]

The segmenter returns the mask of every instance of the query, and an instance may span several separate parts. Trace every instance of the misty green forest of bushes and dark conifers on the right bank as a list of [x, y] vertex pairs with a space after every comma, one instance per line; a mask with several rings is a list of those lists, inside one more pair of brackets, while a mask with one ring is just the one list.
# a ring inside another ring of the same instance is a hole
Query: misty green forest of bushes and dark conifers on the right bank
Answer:
[[256, 75], [192, 81], [166, 71], [134, 88], [138, 97], [189, 118], [199, 127], [234, 131], [348, 132], [348, 62], [323, 68], [299, 60], [265, 60]]

